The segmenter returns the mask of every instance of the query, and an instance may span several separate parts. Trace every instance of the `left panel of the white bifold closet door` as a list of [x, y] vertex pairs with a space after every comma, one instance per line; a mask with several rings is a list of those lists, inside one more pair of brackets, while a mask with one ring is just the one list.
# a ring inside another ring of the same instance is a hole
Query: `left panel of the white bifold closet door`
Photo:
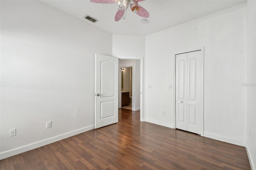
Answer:
[[188, 54], [176, 55], [176, 128], [187, 130]]

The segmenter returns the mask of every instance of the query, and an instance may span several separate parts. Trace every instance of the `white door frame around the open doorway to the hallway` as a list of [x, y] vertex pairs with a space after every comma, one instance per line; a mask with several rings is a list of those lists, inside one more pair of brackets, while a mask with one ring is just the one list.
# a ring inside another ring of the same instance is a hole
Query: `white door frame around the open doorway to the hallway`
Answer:
[[[143, 117], [143, 113], [144, 113], [144, 103], [143, 103], [143, 98], [144, 98], [144, 93], [143, 93], [143, 89], [144, 89], [143, 88], [144, 87], [144, 83], [143, 83], [144, 82], [143, 81], [144, 80], [144, 57], [134, 57], [134, 58], [128, 58], [128, 57], [121, 58], [121, 57], [118, 57], [118, 58], [119, 59], [140, 60], [140, 121], [141, 122], [145, 122], [146, 118]], [[131, 65], [130, 67], [134, 68], [134, 65]], [[132, 71], [133, 71], [132, 75], [134, 76], [134, 70], [132, 70]], [[119, 78], [120, 78], [120, 76], [119, 76]], [[120, 96], [120, 95], [118, 95], [118, 96]], [[132, 97], [133, 97], [133, 95], [132, 95]], [[118, 101], [119, 101], [119, 99], [118, 99]]]

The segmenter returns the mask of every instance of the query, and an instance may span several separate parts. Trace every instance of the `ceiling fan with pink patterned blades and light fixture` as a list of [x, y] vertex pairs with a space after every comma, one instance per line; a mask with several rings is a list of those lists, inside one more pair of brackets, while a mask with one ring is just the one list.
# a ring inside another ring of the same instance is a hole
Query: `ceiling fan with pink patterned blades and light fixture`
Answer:
[[100, 4], [114, 4], [118, 3], [118, 11], [116, 12], [115, 21], [119, 21], [126, 18], [126, 10], [130, 8], [131, 12], [143, 17], [148, 18], [149, 13], [145, 8], [138, 5], [138, 2], [144, 0], [90, 0], [90, 2]]

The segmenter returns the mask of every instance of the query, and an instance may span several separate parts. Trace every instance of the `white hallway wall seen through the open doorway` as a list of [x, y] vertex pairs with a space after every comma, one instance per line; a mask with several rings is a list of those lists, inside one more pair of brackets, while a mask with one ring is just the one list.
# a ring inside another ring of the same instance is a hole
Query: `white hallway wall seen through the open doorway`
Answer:
[[[119, 67], [132, 66], [132, 110], [140, 110], [140, 60], [139, 59], [119, 59]], [[119, 79], [121, 83], [121, 78]], [[121, 87], [121, 86], [120, 86]], [[121, 88], [120, 88], [121, 89]], [[124, 89], [126, 91], [126, 89]], [[122, 103], [121, 93], [119, 94], [119, 107]]]

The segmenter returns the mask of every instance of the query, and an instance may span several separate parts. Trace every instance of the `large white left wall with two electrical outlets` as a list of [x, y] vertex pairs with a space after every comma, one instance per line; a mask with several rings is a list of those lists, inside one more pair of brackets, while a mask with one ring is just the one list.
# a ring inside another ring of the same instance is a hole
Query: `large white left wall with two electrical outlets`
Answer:
[[1, 1], [1, 159], [94, 128], [95, 53], [112, 55], [111, 34], [38, 1]]

